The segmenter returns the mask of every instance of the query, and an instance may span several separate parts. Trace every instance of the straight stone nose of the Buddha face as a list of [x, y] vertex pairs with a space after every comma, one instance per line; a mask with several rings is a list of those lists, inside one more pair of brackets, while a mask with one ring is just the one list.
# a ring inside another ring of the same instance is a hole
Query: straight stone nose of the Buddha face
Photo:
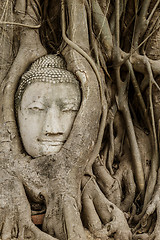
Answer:
[[62, 135], [63, 124], [61, 122], [60, 109], [55, 105], [47, 110], [43, 132], [45, 135]]

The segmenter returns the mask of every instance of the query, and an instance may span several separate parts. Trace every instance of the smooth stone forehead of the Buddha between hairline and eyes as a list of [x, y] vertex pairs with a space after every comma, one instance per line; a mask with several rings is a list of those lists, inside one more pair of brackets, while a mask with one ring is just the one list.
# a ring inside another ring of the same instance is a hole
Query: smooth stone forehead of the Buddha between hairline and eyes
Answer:
[[34, 101], [43, 103], [52, 101], [80, 102], [80, 89], [72, 83], [35, 82], [29, 85], [22, 97], [22, 104]]

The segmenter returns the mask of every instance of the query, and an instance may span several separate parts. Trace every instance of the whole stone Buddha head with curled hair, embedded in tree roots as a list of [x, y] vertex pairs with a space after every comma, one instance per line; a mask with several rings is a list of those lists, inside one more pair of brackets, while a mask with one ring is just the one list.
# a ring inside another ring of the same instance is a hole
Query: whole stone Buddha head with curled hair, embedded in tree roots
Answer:
[[64, 60], [46, 55], [36, 60], [20, 80], [15, 96], [19, 132], [33, 158], [60, 151], [79, 110], [81, 93]]

